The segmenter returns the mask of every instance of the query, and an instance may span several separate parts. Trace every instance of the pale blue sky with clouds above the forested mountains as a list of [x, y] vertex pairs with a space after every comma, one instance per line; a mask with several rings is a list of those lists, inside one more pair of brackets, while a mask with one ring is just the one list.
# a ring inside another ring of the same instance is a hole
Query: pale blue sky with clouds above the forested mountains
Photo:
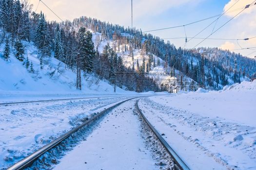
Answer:
[[[87, 16], [113, 24], [131, 27], [131, 0], [42, 1], [62, 20], [73, 20], [80, 16]], [[209, 38], [244, 39], [256, 36], [255, 2], [256, 0], [133, 0], [133, 26], [141, 29], [143, 32], [185, 25], [227, 11], [219, 18], [215, 17], [185, 27], [149, 33], [160, 38], [183, 37], [180, 39], [169, 39], [176, 47], [185, 47], [188, 49], [194, 48], [195, 46], [218, 47], [255, 58], [256, 48], [250, 50], [237, 49], [256, 47], [256, 38], [247, 41], [206, 39], [203, 42], [201, 42], [203, 39], [188, 38], [188, 42], [185, 43], [186, 36], [194, 37], [207, 26], [196, 37], [205, 38], [212, 33]], [[38, 13], [42, 11], [48, 20], [60, 21], [42, 2], [39, 3], [39, 0], [30, 0], [30, 3], [34, 5], [34, 11], [36, 9]], [[252, 5], [243, 10], [247, 4]], [[239, 12], [241, 13], [237, 15]], [[232, 17], [235, 18], [232, 19]], [[229, 22], [225, 24], [227, 21]], [[221, 27], [223, 24], [225, 25]], [[167, 41], [168, 39], [164, 40]], [[200, 44], [197, 45], [198, 43]]]

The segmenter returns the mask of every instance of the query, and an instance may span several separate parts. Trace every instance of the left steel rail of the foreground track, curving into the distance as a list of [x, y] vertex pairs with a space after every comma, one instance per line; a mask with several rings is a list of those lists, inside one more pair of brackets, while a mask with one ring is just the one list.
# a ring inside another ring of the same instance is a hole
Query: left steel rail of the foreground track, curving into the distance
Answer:
[[71, 136], [72, 134], [74, 134], [75, 132], [77, 132], [79, 129], [81, 129], [82, 127], [84, 127], [85, 125], [90, 124], [91, 122], [93, 122], [94, 120], [98, 119], [99, 117], [103, 116], [106, 112], [114, 109], [115, 107], [117, 107], [118, 105], [136, 99], [136, 98], [140, 98], [140, 97], [134, 97], [134, 98], [130, 98], [127, 100], [124, 100], [122, 102], [118, 102], [117, 104], [103, 110], [102, 112], [98, 113], [97, 115], [95, 115], [94, 117], [86, 120], [85, 122], [83, 122], [82, 124], [80, 124], [79, 126], [75, 127], [74, 129], [70, 130], [69, 132], [63, 134], [62, 136], [58, 137], [57, 139], [53, 140], [52, 142], [48, 143], [47, 145], [43, 146], [42, 148], [40, 148], [39, 150], [37, 150], [36, 152], [28, 155], [27, 157], [25, 157], [24, 159], [20, 160], [19, 162], [17, 162], [16, 164], [12, 165], [11, 167], [9, 167], [7, 170], [23, 170], [25, 168], [29, 168], [33, 165], [33, 163], [44, 153], [46, 153], [47, 151], [51, 150], [52, 148], [58, 146], [63, 140], [65, 140], [66, 138], [68, 138], [69, 136]]

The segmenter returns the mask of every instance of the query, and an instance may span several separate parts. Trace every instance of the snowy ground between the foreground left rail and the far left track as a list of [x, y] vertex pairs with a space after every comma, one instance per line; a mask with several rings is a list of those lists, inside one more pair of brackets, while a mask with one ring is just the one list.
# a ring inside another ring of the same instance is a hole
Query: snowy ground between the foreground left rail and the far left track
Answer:
[[76, 127], [82, 119], [129, 97], [0, 106], [0, 169]]

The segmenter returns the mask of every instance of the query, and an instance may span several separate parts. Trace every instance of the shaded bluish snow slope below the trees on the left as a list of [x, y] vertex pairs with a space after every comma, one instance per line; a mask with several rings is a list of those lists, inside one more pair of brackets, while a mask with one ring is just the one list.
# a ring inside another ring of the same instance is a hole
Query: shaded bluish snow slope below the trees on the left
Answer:
[[[76, 72], [66, 68], [65, 64], [56, 58], [49, 57], [43, 61], [43, 68], [40, 68], [40, 61], [37, 58], [38, 50], [33, 43], [23, 41], [25, 46], [25, 60], [20, 62], [11, 51], [10, 58], [5, 61], [0, 53], [0, 93], [22, 93], [22, 94], [113, 94], [114, 87], [108, 82], [99, 80], [93, 74], [86, 74], [82, 79], [82, 91], [76, 90]], [[3, 51], [4, 45], [0, 48]], [[34, 73], [31, 72], [31, 65], [26, 69], [28, 57], [29, 63], [33, 63]], [[125, 91], [117, 88], [118, 93]]]

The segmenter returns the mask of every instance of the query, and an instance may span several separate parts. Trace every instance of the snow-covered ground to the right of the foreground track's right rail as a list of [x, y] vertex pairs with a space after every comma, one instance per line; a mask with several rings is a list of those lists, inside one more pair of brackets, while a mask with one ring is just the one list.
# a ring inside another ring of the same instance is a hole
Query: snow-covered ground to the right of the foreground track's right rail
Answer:
[[256, 169], [256, 81], [156, 96], [139, 107], [192, 170]]

